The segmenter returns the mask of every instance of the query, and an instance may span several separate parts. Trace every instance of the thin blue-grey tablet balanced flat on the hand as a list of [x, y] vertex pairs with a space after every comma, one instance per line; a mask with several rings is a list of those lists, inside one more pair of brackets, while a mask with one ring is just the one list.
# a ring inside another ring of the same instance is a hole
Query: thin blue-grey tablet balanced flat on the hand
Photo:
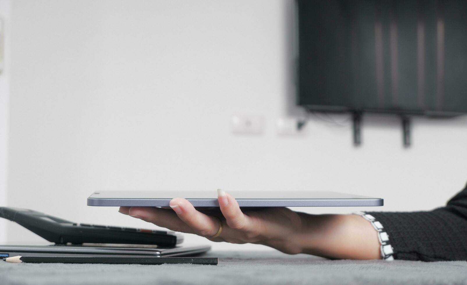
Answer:
[[[342, 207], [382, 206], [383, 199], [336, 192], [228, 191], [240, 207]], [[169, 207], [183, 197], [195, 207], [219, 207], [216, 191], [96, 191], [88, 206]]]

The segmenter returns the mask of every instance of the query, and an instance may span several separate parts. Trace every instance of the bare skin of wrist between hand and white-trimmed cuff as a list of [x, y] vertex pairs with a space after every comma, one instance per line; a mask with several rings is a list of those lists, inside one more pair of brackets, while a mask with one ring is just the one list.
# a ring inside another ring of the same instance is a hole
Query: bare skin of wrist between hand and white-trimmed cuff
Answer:
[[299, 213], [303, 253], [340, 259], [381, 259], [377, 232], [360, 215]]

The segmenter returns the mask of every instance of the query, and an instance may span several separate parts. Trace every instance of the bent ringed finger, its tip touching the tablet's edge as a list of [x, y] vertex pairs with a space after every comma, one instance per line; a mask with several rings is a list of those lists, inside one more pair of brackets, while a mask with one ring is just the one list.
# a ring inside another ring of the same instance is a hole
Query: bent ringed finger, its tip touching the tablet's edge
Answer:
[[185, 222], [198, 235], [210, 237], [214, 236], [219, 230], [219, 221], [215, 217], [199, 212], [187, 200], [174, 198], [169, 204], [178, 218]]

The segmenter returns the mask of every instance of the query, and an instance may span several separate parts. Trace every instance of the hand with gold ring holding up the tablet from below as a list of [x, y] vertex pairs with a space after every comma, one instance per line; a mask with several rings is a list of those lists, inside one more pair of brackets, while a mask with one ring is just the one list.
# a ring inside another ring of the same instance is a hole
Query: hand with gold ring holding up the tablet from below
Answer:
[[[170, 201], [171, 209], [156, 207], [120, 207], [119, 212], [152, 222], [173, 231], [197, 234], [214, 242], [257, 243], [285, 253], [302, 251], [300, 234], [303, 221], [301, 213], [287, 208], [264, 208], [243, 213], [238, 202], [228, 193], [218, 189], [220, 212], [210, 215], [195, 209], [184, 198]], [[219, 220], [222, 231], [219, 231]]]

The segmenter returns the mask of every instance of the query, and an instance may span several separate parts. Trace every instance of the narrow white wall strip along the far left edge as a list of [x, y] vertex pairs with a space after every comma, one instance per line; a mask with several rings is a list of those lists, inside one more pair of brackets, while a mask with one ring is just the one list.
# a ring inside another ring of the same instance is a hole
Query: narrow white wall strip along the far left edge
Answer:
[[[4, 34], [4, 66], [0, 71], [0, 207], [7, 205], [8, 97], [10, 94], [10, 18], [11, 1], [0, 0], [0, 20]], [[0, 219], [0, 244], [7, 240], [7, 221]]]

